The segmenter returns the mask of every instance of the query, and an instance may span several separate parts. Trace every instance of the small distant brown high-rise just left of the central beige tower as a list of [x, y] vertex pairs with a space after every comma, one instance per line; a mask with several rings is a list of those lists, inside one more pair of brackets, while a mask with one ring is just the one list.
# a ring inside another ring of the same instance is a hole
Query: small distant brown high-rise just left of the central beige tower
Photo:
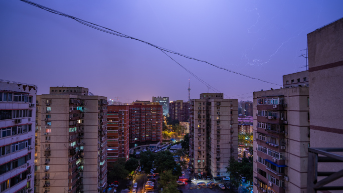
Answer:
[[169, 117], [172, 120], [188, 121], [190, 118], [189, 104], [183, 100], [171, 101], [169, 103]]

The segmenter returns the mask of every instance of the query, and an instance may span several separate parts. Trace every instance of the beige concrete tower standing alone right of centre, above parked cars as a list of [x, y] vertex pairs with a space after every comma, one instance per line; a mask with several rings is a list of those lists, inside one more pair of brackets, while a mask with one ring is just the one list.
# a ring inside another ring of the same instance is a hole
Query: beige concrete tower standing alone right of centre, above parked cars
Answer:
[[202, 93], [190, 101], [190, 168], [195, 175], [227, 175], [230, 156], [237, 159], [237, 99]]

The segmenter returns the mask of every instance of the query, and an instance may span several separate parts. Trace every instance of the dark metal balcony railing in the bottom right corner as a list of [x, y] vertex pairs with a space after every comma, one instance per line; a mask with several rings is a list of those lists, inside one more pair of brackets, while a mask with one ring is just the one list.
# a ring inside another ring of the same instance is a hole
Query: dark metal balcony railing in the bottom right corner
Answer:
[[[343, 190], [341, 184], [340, 186], [324, 186], [343, 177], [343, 169], [336, 172], [318, 171], [318, 162], [343, 162], [342, 155], [332, 152], [343, 152], [343, 148], [308, 148], [307, 193], [315, 193], [317, 190]], [[318, 156], [318, 154], [321, 156]], [[326, 177], [318, 181], [318, 176]]]

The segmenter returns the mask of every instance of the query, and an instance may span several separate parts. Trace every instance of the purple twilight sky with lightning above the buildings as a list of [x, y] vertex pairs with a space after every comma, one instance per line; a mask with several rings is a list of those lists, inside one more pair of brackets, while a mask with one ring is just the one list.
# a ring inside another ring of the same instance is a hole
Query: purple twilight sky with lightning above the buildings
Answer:
[[[343, 1], [43, 1], [35, 3], [248, 76], [282, 85], [305, 70], [306, 34], [343, 16]], [[33, 7], [0, 1], [0, 79], [82, 86], [119, 101], [188, 100], [208, 88], [158, 49]], [[225, 94], [280, 88], [169, 54]], [[210, 92], [214, 92], [210, 90]], [[237, 96], [239, 95], [239, 96]]]

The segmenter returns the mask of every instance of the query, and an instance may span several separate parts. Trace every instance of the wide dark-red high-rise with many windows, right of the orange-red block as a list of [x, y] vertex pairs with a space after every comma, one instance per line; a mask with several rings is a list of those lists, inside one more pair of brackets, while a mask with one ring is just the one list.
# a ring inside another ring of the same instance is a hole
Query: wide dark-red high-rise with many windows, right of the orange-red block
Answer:
[[129, 105], [129, 142], [162, 142], [162, 106]]

